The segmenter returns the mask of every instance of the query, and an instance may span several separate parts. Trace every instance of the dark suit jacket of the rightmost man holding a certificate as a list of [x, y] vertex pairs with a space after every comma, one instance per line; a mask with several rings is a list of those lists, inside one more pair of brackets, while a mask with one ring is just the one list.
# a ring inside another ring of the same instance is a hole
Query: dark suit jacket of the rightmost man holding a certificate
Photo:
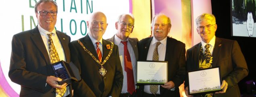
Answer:
[[[188, 71], [199, 68], [201, 45], [200, 42], [187, 50]], [[237, 41], [216, 37], [212, 57], [212, 67], [220, 66], [221, 78], [228, 83], [226, 93], [214, 94], [214, 97], [240, 97], [237, 83], [248, 75], [248, 68]], [[187, 83], [186, 80], [185, 87]]]

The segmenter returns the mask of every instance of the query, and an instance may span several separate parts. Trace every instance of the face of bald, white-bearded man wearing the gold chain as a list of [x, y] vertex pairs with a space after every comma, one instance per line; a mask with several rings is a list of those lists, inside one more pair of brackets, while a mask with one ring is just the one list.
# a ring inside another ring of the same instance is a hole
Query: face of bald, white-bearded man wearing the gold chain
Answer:
[[102, 39], [107, 26], [106, 16], [102, 12], [93, 13], [91, 19], [87, 21], [87, 27], [89, 28], [90, 35], [98, 41]]

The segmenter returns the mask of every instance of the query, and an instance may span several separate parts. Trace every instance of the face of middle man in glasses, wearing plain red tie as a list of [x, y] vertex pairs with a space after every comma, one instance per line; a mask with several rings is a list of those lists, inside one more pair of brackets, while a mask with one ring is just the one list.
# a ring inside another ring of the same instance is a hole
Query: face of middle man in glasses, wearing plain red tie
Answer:
[[129, 14], [123, 15], [120, 21], [116, 22], [117, 36], [122, 40], [126, 40], [133, 31], [133, 27], [128, 25], [134, 25], [133, 18]]

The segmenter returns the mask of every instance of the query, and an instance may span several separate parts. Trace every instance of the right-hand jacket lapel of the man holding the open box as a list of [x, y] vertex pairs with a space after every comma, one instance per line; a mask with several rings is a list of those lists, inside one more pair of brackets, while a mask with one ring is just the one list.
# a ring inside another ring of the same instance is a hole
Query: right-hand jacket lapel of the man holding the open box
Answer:
[[59, 41], [60, 41], [60, 43], [61, 43], [61, 45], [62, 45], [62, 48], [63, 48], [63, 50], [64, 50], [64, 54], [65, 54], [65, 58], [66, 58], [66, 61], [67, 62], [69, 62], [70, 60], [70, 56], [69, 56], [69, 45], [68, 45], [68, 42], [69, 42], [69, 40], [68, 39], [65, 39], [65, 37], [62, 35], [62, 34], [60, 34], [60, 32], [59, 31], [56, 31], [56, 34], [57, 34], [57, 36], [58, 36], [58, 39], [59, 39]]

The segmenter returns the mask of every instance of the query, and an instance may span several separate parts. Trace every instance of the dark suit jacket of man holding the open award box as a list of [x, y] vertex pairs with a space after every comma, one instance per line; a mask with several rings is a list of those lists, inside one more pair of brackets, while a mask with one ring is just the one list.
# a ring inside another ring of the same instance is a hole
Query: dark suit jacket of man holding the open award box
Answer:
[[[66, 61], [70, 62], [70, 37], [60, 31], [56, 31], [56, 34]], [[20, 97], [55, 97], [55, 89], [46, 85], [47, 76], [54, 75], [50, 64], [37, 27], [13, 35], [9, 77], [12, 82], [21, 85]]]

